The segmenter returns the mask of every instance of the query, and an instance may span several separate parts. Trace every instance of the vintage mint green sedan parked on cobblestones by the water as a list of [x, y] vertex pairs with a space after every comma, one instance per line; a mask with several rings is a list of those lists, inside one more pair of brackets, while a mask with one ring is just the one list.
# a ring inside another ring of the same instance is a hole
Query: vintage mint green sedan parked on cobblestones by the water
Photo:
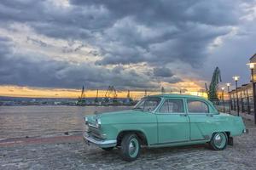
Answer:
[[141, 146], [163, 147], [208, 143], [224, 150], [233, 137], [247, 133], [240, 116], [219, 113], [210, 101], [197, 96], [148, 96], [131, 111], [84, 117], [84, 141], [103, 150], [118, 147], [125, 161], [134, 161]]

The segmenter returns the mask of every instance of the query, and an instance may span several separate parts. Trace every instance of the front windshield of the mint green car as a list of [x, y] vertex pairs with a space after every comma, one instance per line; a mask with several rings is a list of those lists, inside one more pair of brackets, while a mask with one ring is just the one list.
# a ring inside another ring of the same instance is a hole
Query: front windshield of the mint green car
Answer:
[[154, 111], [160, 104], [160, 100], [160, 98], [153, 97], [143, 98], [135, 105], [134, 110]]

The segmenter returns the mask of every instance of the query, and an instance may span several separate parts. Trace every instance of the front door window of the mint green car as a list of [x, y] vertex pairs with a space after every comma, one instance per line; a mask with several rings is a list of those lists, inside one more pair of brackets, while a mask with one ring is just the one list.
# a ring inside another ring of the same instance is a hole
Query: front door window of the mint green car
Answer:
[[160, 113], [183, 113], [182, 99], [166, 99], [160, 108]]

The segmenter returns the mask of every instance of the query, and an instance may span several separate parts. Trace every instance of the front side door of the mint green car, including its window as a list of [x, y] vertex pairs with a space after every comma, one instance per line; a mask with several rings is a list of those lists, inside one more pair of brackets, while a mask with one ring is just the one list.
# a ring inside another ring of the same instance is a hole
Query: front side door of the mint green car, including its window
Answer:
[[189, 140], [189, 117], [183, 99], [165, 99], [157, 111], [159, 144]]

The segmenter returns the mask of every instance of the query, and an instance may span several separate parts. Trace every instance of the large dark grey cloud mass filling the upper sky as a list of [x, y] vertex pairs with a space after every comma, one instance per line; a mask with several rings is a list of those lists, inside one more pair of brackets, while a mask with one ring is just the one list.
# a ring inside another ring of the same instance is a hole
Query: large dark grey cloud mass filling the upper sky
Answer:
[[236, 24], [240, 1], [230, 2], [73, 0], [65, 10], [48, 1], [3, 0], [0, 19], [26, 22], [49, 37], [87, 41], [104, 57], [96, 64], [158, 65], [181, 59], [198, 66], [209, 43], [230, 32], [224, 26]]

